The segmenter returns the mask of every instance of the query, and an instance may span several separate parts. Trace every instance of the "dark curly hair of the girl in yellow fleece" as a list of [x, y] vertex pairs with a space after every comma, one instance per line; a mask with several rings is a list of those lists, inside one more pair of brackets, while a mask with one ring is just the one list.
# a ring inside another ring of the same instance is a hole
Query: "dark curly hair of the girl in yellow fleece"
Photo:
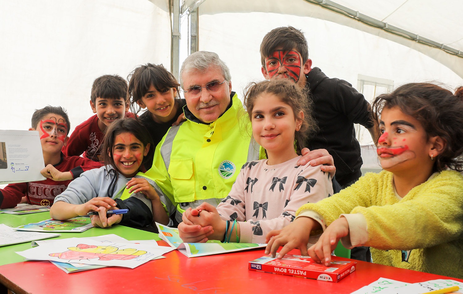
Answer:
[[373, 117], [379, 121], [384, 108], [399, 107], [403, 113], [417, 119], [427, 138], [439, 136], [445, 147], [434, 157], [434, 171], [463, 170], [463, 89], [454, 94], [432, 83], [410, 83], [390, 94], [382, 94], [373, 102]]

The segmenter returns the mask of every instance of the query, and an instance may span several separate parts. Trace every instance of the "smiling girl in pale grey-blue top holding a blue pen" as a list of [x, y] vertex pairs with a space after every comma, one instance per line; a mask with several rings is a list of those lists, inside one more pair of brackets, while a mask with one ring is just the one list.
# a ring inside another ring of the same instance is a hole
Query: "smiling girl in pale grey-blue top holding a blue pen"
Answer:
[[51, 217], [63, 220], [95, 211], [98, 215], [91, 216], [94, 226], [118, 224], [122, 215], [107, 217], [106, 211], [130, 208], [122, 201], [116, 203], [124, 190], [129, 189], [137, 201], [149, 202], [145, 204], [149, 204], [154, 221], [169, 224], [169, 217], [156, 190], [146, 179], [135, 177], [139, 171], [146, 171], [144, 163], [153, 154], [152, 142], [146, 128], [137, 120], [114, 121], [107, 128], [103, 142], [106, 166], [84, 172], [71, 182], [68, 189], [56, 196], [50, 209]]

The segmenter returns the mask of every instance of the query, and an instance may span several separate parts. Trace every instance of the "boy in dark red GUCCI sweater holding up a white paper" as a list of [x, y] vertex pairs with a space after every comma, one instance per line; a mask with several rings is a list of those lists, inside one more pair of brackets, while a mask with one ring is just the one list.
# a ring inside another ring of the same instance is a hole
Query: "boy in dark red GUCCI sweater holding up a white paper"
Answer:
[[14, 183], [0, 189], [0, 208], [18, 205], [22, 198], [29, 204], [47, 206], [53, 204], [69, 182], [88, 169], [101, 167], [102, 163], [80, 156], [64, 156], [61, 152], [68, 141], [69, 118], [62, 107], [46, 106], [34, 112], [29, 131], [38, 131], [45, 168], [41, 173], [47, 179], [25, 183]]

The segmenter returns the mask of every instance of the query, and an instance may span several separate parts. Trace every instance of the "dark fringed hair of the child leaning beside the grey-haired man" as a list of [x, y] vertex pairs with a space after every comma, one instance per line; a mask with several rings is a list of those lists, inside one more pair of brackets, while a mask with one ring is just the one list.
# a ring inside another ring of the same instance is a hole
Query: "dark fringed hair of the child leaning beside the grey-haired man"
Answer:
[[[166, 89], [176, 88], [177, 96], [175, 98], [180, 99], [180, 84], [175, 79], [174, 75], [162, 64], [156, 65], [146, 63], [145, 65], [140, 65], [127, 76], [127, 80], [129, 80], [129, 88], [126, 101], [131, 102], [130, 108], [133, 113], [138, 113], [140, 111], [140, 106], [137, 104], [137, 101], [142, 99], [151, 85], [161, 93]], [[175, 101], [175, 103], [178, 102]]]

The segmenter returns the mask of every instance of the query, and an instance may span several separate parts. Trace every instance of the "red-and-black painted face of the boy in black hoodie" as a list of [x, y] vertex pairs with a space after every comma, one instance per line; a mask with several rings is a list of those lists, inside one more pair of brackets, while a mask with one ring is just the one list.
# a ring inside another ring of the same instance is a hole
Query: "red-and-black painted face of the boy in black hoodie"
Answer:
[[294, 50], [275, 50], [265, 59], [265, 69], [270, 79], [279, 75], [297, 82], [300, 78], [301, 64], [300, 54]]

